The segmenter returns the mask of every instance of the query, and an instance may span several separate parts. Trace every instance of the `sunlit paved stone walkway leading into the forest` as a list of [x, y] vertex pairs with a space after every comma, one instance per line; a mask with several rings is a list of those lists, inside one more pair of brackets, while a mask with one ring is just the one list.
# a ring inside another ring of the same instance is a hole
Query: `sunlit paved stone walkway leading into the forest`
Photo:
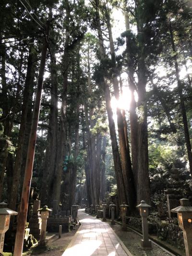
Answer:
[[127, 256], [121, 241], [110, 225], [96, 217], [78, 211], [80, 228], [62, 256]]

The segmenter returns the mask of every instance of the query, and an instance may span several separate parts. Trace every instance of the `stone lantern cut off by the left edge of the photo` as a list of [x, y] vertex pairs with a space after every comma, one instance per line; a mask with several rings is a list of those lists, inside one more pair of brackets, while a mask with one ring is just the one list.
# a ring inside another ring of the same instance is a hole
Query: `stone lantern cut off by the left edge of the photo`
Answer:
[[7, 208], [7, 204], [4, 202], [0, 203], [0, 253], [3, 253], [4, 237], [5, 232], [9, 229], [9, 222], [11, 215], [17, 215], [18, 212], [12, 211]]

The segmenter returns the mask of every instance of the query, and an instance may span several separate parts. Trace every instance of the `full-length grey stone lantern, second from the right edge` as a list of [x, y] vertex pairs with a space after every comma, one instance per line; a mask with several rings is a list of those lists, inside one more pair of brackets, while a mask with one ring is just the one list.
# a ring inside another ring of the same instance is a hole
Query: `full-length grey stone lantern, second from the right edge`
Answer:
[[142, 218], [142, 229], [143, 229], [143, 239], [141, 240], [141, 245], [143, 248], [151, 248], [151, 241], [149, 241], [148, 233], [148, 223], [147, 216], [149, 215], [149, 205], [145, 201], [141, 201], [141, 204], [137, 206], [139, 208], [140, 216]]

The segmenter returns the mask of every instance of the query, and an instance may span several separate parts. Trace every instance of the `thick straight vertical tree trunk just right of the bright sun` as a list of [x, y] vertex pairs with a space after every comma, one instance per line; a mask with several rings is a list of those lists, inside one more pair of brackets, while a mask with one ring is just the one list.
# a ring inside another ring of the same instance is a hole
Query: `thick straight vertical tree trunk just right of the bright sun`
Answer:
[[146, 99], [146, 64], [145, 64], [145, 33], [142, 3], [136, 9], [138, 31], [138, 188], [137, 203], [141, 200], [150, 202], [149, 196], [149, 170], [148, 170], [148, 129], [147, 129], [147, 99]]

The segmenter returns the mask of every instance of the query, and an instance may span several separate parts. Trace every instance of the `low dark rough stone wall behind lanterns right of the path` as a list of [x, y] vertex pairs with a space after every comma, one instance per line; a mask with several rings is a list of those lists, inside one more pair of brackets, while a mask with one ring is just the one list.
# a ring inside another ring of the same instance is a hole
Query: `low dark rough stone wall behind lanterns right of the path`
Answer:
[[[141, 218], [128, 217], [127, 224], [142, 232]], [[183, 233], [180, 227], [174, 223], [169, 223], [166, 220], [155, 218], [154, 221], [149, 221], [149, 234], [156, 235], [160, 240], [166, 241], [169, 244], [177, 245], [184, 248]]]

